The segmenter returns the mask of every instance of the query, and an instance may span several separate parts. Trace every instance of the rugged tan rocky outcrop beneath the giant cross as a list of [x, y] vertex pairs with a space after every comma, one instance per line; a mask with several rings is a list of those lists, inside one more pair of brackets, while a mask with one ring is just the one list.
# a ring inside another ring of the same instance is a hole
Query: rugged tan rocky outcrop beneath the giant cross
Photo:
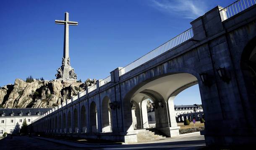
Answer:
[[55, 107], [84, 90], [85, 84], [76, 81], [34, 80], [27, 83], [16, 79], [14, 85], [0, 88], [0, 104], [4, 108]]

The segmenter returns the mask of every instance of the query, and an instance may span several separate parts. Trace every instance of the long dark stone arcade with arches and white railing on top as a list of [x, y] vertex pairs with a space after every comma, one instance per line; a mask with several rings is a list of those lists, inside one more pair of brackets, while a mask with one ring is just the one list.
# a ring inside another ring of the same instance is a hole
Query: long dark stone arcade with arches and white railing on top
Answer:
[[209, 10], [193, 20], [188, 31], [128, 66], [115, 69], [96, 86], [44, 114], [34, 122], [34, 130], [57, 136], [137, 142], [131, 101], [143, 106], [145, 99], [151, 99], [158, 107], [157, 130], [169, 137], [177, 136], [175, 96], [199, 84], [206, 145], [253, 145], [256, 5], [232, 17], [227, 17], [227, 10], [220, 6]]

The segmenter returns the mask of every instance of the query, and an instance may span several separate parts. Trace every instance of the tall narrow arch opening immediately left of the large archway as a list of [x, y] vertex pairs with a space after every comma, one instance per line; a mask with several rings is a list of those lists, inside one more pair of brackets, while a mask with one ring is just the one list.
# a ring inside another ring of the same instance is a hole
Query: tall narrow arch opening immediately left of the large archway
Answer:
[[102, 132], [112, 131], [112, 114], [109, 103], [110, 99], [105, 96], [102, 100]]

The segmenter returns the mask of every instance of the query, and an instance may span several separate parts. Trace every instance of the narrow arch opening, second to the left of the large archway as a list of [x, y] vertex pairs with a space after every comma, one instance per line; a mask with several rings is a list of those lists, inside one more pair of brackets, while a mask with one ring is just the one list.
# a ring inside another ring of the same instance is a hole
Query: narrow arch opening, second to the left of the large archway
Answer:
[[97, 132], [98, 122], [97, 122], [97, 107], [95, 102], [91, 102], [90, 106], [90, 131]]

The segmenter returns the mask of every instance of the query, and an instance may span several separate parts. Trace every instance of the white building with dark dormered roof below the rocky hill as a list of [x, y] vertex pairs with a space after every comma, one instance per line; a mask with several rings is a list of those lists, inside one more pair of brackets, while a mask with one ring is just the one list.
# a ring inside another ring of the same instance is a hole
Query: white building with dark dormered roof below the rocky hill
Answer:
[[20, 125], [26, 119], [27, 124], [31, 124], [35, 119], [42, 116], [52, 108], [6, 108], [0, 109], [0, 136], [4, 132], [12, 133], [15, 126]]

